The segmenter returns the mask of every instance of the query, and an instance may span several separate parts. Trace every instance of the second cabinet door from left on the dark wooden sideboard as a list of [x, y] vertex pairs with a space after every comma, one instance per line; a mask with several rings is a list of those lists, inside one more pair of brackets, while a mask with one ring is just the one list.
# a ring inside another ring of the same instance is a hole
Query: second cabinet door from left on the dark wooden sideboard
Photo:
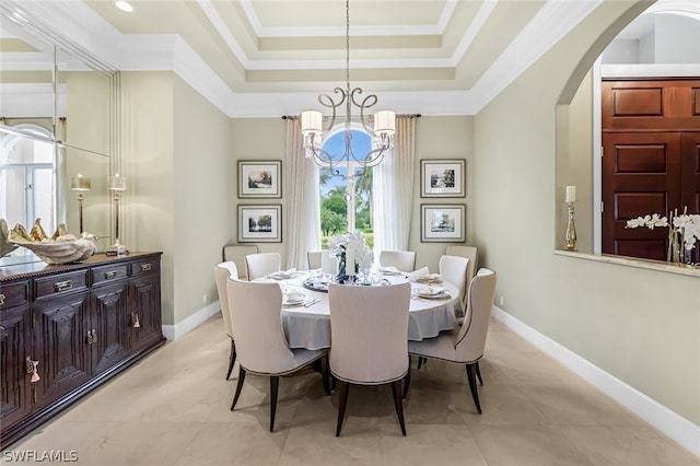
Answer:
[[90, 378], [89, 294], [86, 292], [34, 303], [35, 360], [40, 380], [34, 385], [36, 407], [44, 406]]

